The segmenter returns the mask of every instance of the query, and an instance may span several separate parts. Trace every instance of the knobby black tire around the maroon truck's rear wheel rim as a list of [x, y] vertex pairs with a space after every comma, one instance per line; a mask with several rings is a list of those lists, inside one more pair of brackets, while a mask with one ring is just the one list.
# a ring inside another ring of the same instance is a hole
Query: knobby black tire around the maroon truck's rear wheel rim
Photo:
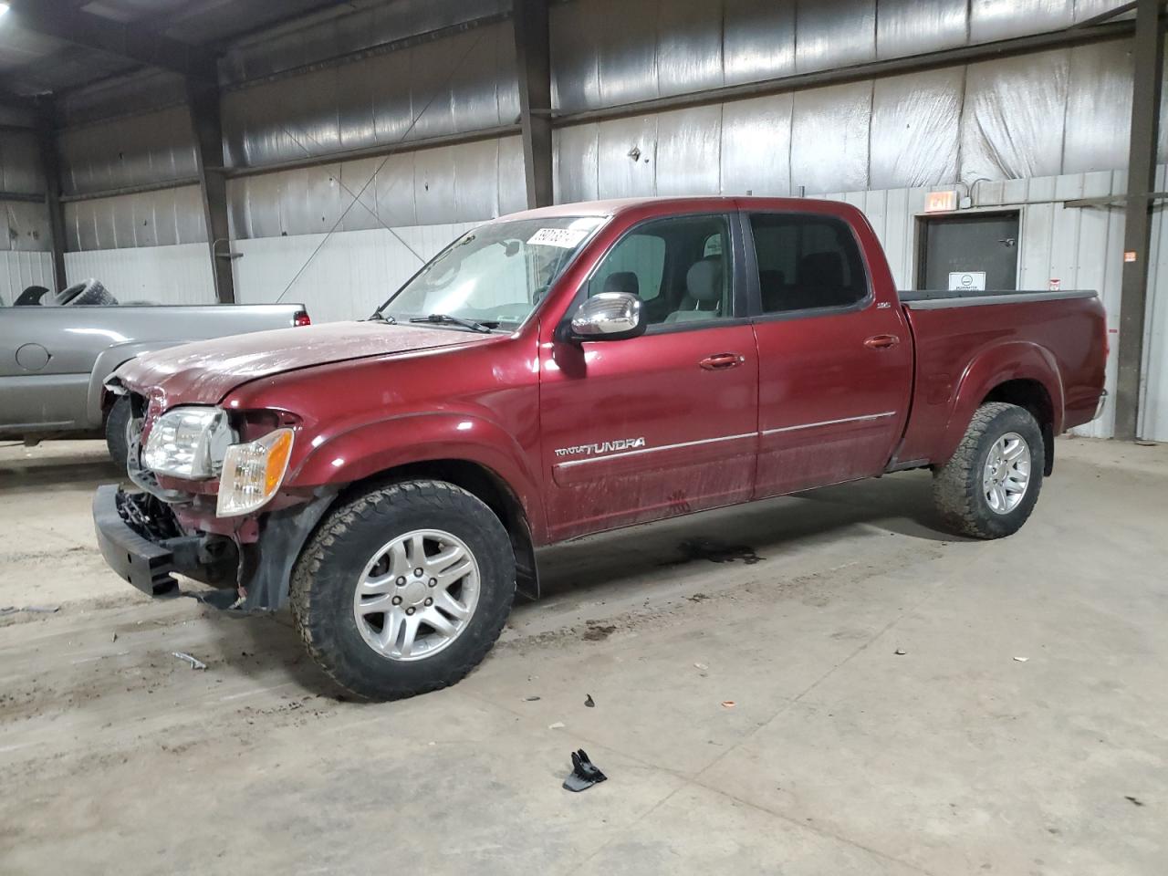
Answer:
[[[1030, 480], [1017, 507], [999, 514], [989, 507], [982, 489], [982, 471], [994, 443], [1015, 432], [1030, 450]], [[1002, 538], [1026, 523], [1042, 489], [1045, 447], [1042, 429], [1034, 416], [1016, 404], [990, 402], [981, 405], [950, 460], [933, 471], [933, 505], [946, 529], [971, 538]]]

